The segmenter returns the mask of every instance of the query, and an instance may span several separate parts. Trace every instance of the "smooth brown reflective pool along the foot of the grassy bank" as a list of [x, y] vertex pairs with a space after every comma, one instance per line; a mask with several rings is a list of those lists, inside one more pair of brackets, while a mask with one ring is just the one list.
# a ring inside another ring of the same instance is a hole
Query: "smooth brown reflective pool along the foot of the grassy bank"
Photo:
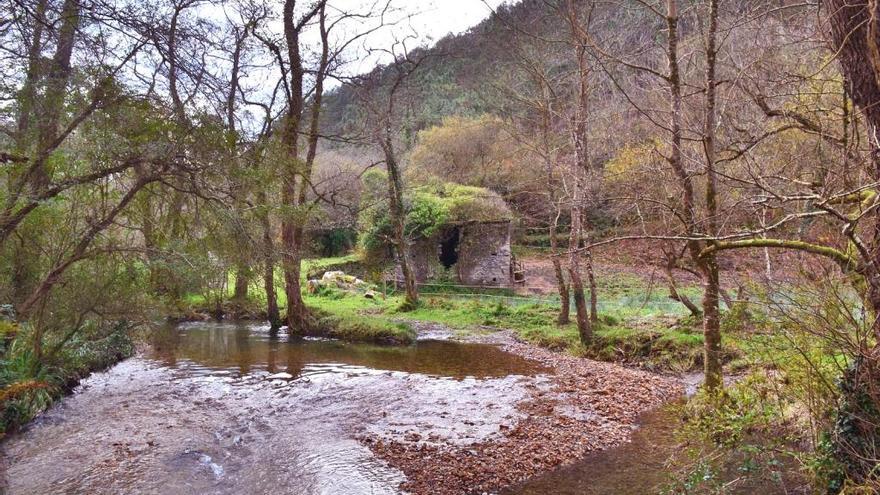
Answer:
[[167, 326], [149, 357], [196, 374], [247, 375], [257, 371], [293, 377], [371, 369], [453, 378], [495, 378], [544, 371], [536, 363], [484, 344], [419, 341], [411, 346], [351, 344], [273, 335], [253, 324]]

